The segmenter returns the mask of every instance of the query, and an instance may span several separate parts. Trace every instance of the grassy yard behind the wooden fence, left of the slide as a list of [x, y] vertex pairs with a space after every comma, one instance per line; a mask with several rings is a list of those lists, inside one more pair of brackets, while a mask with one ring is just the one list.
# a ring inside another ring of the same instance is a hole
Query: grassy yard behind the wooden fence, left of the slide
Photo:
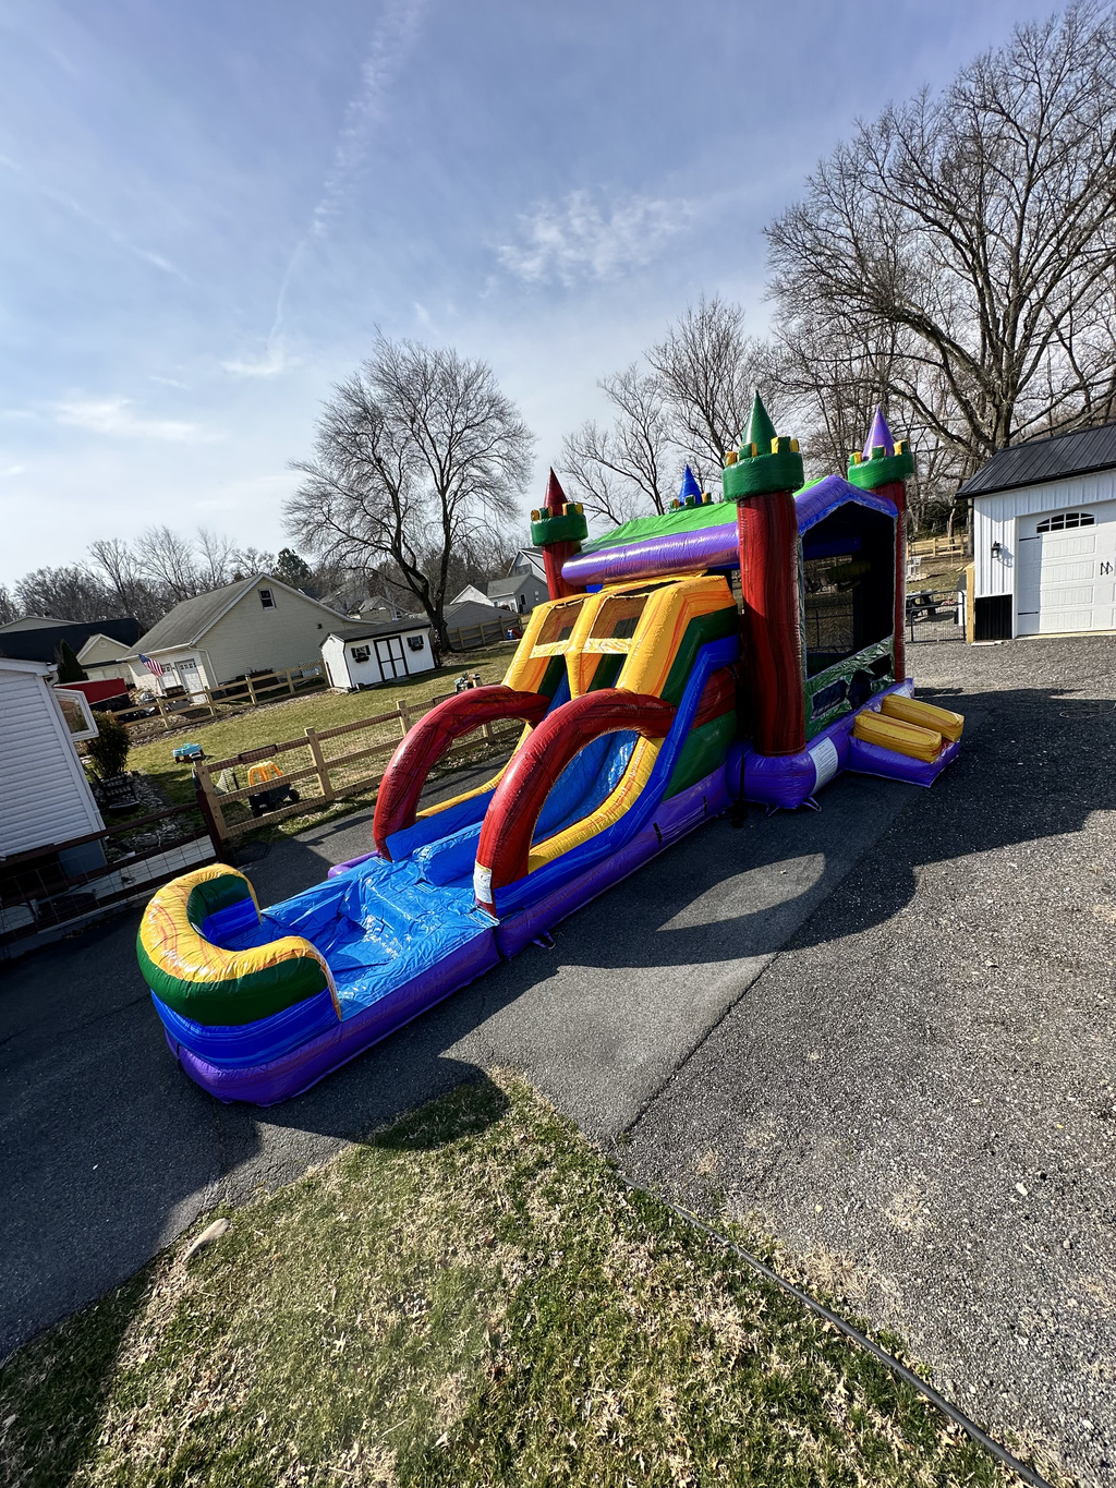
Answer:
[[[283, 702], [266, 704], [259, 708], [248, 708], [232, 717], [217, 719], [213, 723], [201, 723], [196, 728], [176, 731], [159, 735], [144, 744], [132, 745], [128, 756], [129, 769], [141, 769], [164, 795], [174, 802], [193, 801], [193, 784], [189, 763], [176, 763], [174, 747], [186, 740], [201, 744], [210, 759], [231, 759], [246, 750], [293, 740], [311, 729], [330, 729], [341, 723], [356, 723], [359, 719], [375, 717], [387, 713], [403, 702], [411, 707], [421, 707], [430, 698], [446, 695], [454, 690], [454, 682], [463, 671], [479, 673], [482, 682], [500, 682], [507, 671], [507, 665], [515, 655], [513, 641], [503, 641], [488, 646], [484, 650], [463, 652], [455, 656], [451, 665], [439, 667], [434, 671], [424, 671], [418, 677], [405, 682], [387, 683], [381, 687], [371, 687], [366, 692], [311, 692], [302, 698], [287, 698]], [[329, 741], [326, 753], [344, 753], [366, 747], [381, 740], [399, 738], [397, 725], [381, 726], [379, 729], [344, 735], [341, 740]], [[385, 754], [376, 763], [385, 765]], [[287, 769], [301, 769], [311, 763], [310, 750], [292, 750], [280, 756], [280, 762]], [[354, 766], [354, 775], [369, 774], [372, 763], [365, 760]], [[339, 777], [339, 778], [344, 778]], [[243, 781], [247, 784], [247, 780]], [[312, 781], [304, 793], [315, 792]], [[302, 832], [310, 820], [324, 821], [333, 817], [357, 811], [375, 799], [375, 792], [365, 796], [350, 796], [338, 802], [329, 812], [315, 812], [311, 817], [287, 817], [284, 821], [260, 827], [265, 833], [281, 833], [290, 836]]]

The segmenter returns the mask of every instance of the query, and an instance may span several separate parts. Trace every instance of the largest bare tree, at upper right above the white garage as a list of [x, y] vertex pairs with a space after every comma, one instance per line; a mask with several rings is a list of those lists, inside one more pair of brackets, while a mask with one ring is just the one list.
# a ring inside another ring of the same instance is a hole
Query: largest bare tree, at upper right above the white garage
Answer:
[[1085, 0], [1018, 27], [940, 95], [860, 125], [768, 241], [792, 357], [870, 330], [881, 400], [926, 432], [942, 479], [1112, 418], [1113, 12]]

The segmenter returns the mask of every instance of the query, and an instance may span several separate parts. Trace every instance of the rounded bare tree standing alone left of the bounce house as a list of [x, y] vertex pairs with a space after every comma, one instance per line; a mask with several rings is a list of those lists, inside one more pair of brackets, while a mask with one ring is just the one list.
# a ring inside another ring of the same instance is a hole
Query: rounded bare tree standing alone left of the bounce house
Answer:
[[295, 466], [287, 528], [326, 559], [390, 562], [448, 649], [454, 554], [510, 519], [531, 445], [485, 362], [381, 336], [324, 406], [314, 458]]

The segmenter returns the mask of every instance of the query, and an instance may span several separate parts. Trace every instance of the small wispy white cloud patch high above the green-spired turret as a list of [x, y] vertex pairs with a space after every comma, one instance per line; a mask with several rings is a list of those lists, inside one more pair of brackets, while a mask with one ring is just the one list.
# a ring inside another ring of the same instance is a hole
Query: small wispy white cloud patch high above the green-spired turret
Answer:
[[528, 284], [607, 280], [650, 263], [692, 217], [686, 201], [623, 196], [601, 211], [589, 192], [576, 190], [564, 202], [542, 202], [521, 214], [519, 241], [501, 244], [497, 256]]

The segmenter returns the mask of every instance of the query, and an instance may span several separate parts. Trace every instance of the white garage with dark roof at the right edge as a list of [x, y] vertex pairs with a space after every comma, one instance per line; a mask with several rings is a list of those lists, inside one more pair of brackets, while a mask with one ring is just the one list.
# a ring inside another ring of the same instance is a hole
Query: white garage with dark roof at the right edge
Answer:
[[1116, 424], [1001, 449], [973, 500], [973, 638], [1116, 631]]

